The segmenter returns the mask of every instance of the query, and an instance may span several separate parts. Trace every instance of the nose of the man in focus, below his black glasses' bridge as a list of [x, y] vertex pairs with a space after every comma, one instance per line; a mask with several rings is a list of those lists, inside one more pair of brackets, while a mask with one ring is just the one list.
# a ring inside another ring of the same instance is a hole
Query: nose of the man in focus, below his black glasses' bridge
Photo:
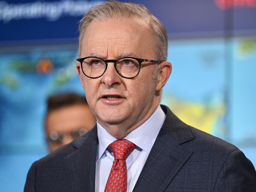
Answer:
[[115, 66], [113, 63], [109, 62], [107, 70], [103, 74], [102, 83], [108, 85], [109, 87], [113, 87], [113, 85], [121, 84], [121, 76], [115, 70]]

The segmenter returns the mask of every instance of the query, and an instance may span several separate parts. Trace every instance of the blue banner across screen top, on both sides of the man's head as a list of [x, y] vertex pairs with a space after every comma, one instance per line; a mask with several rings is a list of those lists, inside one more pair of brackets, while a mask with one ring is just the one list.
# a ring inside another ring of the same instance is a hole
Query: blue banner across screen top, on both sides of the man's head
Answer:
[[[100, 0], [0, 0], [0, 43], [77, 41], [78, 22]], [[133, 0], [165, 25], [169, 38], [256, 34], [256, 0]], [[47, 41], [48, 40], [48, 41]], [[15, 44], [14, 43], [14, 44]]]

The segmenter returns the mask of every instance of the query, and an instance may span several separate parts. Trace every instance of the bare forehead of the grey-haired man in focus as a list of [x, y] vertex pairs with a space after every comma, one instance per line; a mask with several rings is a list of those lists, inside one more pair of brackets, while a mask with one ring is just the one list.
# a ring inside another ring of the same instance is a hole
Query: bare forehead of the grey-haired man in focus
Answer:
[[154, 37], [147, 21], [141, 18], [93, 20], [84, 33], [81, 56], [118, 57], [131, 53], [154, 57]]

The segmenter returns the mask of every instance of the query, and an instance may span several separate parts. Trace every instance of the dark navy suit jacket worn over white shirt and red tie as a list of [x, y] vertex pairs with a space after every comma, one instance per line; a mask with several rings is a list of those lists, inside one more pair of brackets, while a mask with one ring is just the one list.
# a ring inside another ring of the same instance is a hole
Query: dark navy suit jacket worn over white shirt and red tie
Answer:
[[[256, 192], [256, 172], [236, 146], [161, 105], [165, 122], [133, 192]], [[94, 192], [97, 127], [31, 166], [25, 192]]]

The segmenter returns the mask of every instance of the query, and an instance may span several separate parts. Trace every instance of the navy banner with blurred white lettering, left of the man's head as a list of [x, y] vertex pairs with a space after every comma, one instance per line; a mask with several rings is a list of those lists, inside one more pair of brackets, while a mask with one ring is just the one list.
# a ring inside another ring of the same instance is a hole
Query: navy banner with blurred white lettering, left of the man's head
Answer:
[[76, 41], [84, 13], [103, 1], [0, 1], [0, 41]]

